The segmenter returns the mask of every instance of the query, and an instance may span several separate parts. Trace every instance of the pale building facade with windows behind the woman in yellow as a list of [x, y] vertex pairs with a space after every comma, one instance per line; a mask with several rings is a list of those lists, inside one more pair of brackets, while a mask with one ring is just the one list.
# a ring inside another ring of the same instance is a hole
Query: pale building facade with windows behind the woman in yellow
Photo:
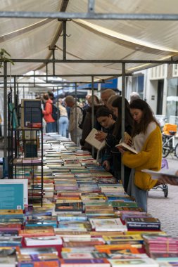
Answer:
[[[122, 89], [119, 78], [118, 89]], [[167, 122], [178, 124], [178, 65], [158, 65], [147, 70], [134, 72], [126, 78], [125, 96], [139, 93], [151, 106], [155, 115], [166, 117]]]

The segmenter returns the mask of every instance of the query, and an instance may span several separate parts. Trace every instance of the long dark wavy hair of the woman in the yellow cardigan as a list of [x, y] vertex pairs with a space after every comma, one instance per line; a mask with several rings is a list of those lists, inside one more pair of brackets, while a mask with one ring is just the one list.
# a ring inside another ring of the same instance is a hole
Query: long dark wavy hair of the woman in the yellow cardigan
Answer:
[[141, 121], [139, 123], [136, 123], [134, 121], [133, 136], [136, 136], [136, 134], [139, 134], [141, 132], [146, 133], [148, 124], [150, 124], [151, 122], [155, 122], [155, 124], [159, 126], [157, 120], [153, 116], [153, 111], [151, 110], [151, 107], [148, 105], [148, 103], [146, 103], [146, 101], [142, 99], [133, 100], [132, 103], [130, 103], [129, 108], [141, 110], [143, 112]]

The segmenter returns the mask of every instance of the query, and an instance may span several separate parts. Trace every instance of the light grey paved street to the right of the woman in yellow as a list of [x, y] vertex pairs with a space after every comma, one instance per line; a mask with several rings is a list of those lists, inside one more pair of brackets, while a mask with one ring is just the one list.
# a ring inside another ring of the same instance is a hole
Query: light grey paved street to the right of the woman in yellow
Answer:
[[[167, 157], [169, 168], [178, 169], [178, 159]], [[162, 230], [172, 236], [178, 236], [178, 186], [168, 185], [168, 196], [163, 190], [151, 190], [148, 193], [148, 212], [160, 219]]]

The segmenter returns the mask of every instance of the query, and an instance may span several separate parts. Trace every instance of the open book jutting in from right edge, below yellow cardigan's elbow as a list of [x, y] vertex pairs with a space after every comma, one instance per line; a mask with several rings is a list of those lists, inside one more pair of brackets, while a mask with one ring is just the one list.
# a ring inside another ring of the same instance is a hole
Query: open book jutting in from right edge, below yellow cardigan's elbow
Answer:
[[160, 171], [152, 171], [151, 169], [142, 169], [141, 171], [146, 172], [146, 174], [150, 174], [152, 179], [158, 179], [161, 178], [160, 176], [165, 175], [170, 178], [177, 178], [178, 181], [178, 175], [177, 169], [160, 169]]

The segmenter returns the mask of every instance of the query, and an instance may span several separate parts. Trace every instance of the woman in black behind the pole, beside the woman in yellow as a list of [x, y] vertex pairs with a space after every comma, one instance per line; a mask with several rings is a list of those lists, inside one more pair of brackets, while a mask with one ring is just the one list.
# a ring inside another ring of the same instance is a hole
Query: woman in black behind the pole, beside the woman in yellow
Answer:
[[[110, 164], [110, 166], [113, 166], [113, 175], [115, 176], [115, 178], [121, 180], [121, 154], [120, 151], [117, 150], [117, 148], [115, 148], [115, 145], [117, 145], [117, 143], [119, 143], [121, 139], [121, 121], [122, 121], [121, 96], [117, 96], [117, 98], [113, 100], [112, 107], [113, 107], [113, 113], [117, 118], [115, 122], [115, 127], [113, 129], [113, 133], [112, 134], [103, 133], [102, 131], [98, 131], [96, 138], [99, 141], [106, 139], [106, 146], [110, 148], [110, 157], [108, 157], [107, 159], [108, 164]], [[125, 99], [125, 132], [127, 132], [129, 135], [131, 135], [132, 133], [132, 124], [133, 124], [133, 119], [129, 111], [129, 103], [127, 99]], [[125, 177], [122, 179], [125, 190], [127, 190], [127, 185], [129, 182], [129, 174], [130, 174], [130, 169], [128, 167], [125, 167]]]

